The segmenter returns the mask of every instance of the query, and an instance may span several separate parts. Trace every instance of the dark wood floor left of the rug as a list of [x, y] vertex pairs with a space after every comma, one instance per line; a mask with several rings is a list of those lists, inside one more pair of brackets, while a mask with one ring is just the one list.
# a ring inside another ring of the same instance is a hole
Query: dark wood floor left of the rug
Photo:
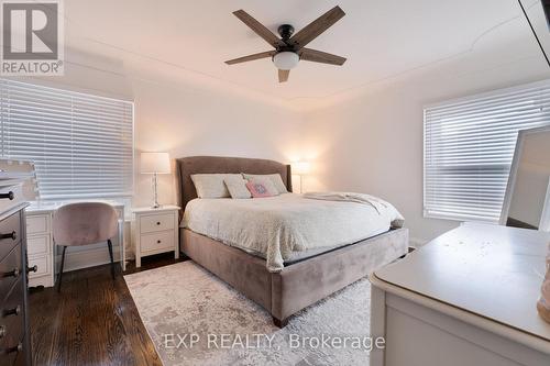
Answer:
[[[173, 263], [152, 256], [140, 270]], [[61, 293], [32, 289], [29, 310], [34, 365], [162, 365], [120, 268], [114, 280], [108, 265], [67, 273]]]

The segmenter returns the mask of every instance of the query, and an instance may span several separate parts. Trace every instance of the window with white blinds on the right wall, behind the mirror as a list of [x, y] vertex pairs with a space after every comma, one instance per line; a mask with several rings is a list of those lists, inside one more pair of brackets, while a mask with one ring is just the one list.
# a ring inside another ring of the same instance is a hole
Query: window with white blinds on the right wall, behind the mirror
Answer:
[[519, 130], [550, 124], [550, 82], [424, 110], [424, 213], [497, 222]]

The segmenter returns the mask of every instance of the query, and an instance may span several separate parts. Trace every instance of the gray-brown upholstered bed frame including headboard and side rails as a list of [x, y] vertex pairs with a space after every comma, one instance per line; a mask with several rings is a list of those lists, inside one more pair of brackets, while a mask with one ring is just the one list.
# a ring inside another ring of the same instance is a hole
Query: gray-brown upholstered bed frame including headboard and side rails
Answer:
[[[274, 160], [191, 156], [176, 159], [176, 169], [183, 210], [197, 198], [193, 174], [280, 174], [292, 191], [290, 166]], [[262, 306], [279, 328], [296, 312], [397, 259], [408, 248], [408, 230], [396, 229], [270, 273], [265, 259], [208, 236], [180, 229], [179, 237], [185, 255]]]

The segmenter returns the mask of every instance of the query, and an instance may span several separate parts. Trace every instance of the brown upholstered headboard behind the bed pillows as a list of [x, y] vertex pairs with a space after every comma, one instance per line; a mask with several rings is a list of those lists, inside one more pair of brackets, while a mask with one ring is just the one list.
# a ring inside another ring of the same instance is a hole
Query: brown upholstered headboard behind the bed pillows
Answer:
[[177, 199], [183, 210], [187, 202], [197, 198], [191, 180], [193, 174], [205, 173], [249, 173], [280, 174], [289, 192], [293, 191], [290, 165], [267, 159], [222, 156], [188, 156], [176, 159]]

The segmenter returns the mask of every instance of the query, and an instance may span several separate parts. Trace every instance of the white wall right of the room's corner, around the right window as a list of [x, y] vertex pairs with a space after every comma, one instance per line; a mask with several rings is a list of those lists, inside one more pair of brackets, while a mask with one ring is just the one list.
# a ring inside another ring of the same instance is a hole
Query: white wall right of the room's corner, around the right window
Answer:
[[448, 73], [449, 67], [416, 73], [307, 113], [309, 138], [304, 156], [311, 159], [314, 171], [306, 190], [383, 197], [405, 215], [417, 243], [455, 228], [457, 221], [422, 215], [422, 107], [540, 80], [549, 74], [541, 57], [480, 66], [482, 70], [477, 67], [468, 73]]

